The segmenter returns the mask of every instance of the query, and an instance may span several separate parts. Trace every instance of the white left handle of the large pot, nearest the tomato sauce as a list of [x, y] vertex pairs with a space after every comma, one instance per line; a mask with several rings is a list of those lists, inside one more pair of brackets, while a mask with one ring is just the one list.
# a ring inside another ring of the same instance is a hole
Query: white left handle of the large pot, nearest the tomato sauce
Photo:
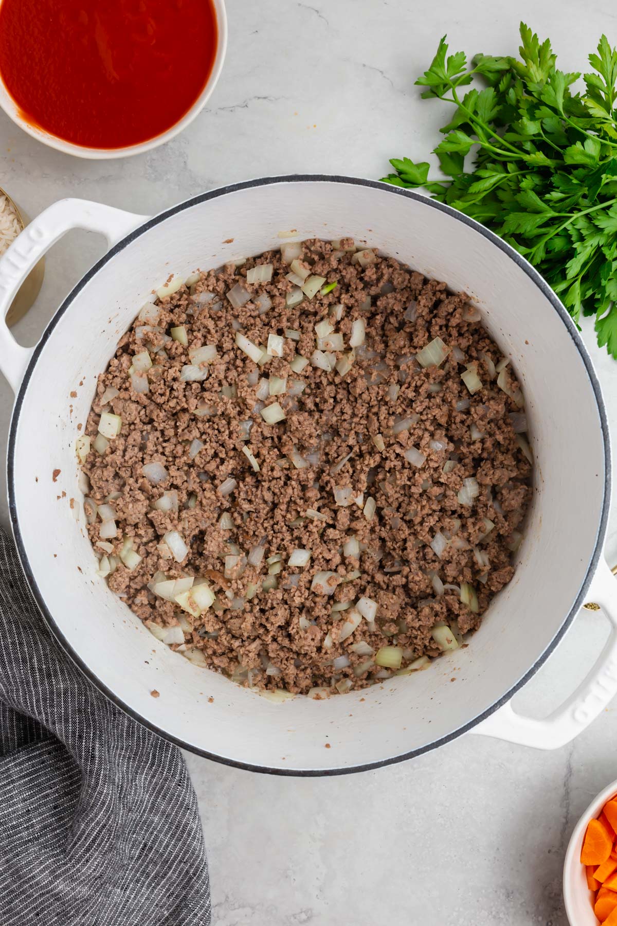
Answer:
[[61, 199], [33, 219], [0, 257], [0, 371], [14, 392], [19, 389], [34, 348], [17, 343], [6, 326], [6, 313], [36, 262], [71, 229], [100, 232], [112, 247], [147, 219], [149, 216], [86, 199]]

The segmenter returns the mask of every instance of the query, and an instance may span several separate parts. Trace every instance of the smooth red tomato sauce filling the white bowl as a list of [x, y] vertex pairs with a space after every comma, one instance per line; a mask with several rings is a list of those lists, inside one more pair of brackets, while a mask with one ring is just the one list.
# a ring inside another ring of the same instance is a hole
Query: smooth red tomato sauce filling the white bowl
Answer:
[[0, 77], [22, 118], [85, 147], [175, 125], [217, 40], [212, 0], [0, 0]]

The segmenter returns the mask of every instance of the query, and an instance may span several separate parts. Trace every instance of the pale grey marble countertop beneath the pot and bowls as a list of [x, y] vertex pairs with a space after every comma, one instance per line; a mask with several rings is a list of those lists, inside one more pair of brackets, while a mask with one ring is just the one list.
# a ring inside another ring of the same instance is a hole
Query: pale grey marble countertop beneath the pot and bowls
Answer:
[[[584, 9], [584, 13], [582, 10]], [[0, 185], [31, 215], [62, 196], [152, 213], [190, 194], [265, 174], [379, 177], [389, 156], [425, 156], [443, 112], [415, 76], [448, 31], [452, 45], [512, 53], [518, 20], [549, 34], [564, 69], [584, 69], [608, 0], [229, 0], [228, 59], [215, 94], [179, 138], [147, 156], [80, 161], [34, 142], [0, 114]], [[73, 232], [51, 253], [43, 292], [18, 327], [33, 343], [60, 298], [101, 253]], [[584, 337], [617, 435], [617, 366]], [[11, 396], [0, 381], [4, 454]], [[4, 492], [0, 519], [6, 522]], [[608, 553], [617, 561], [617, 517]], [[547, 576], [547, 582], [559, 582]], [[542, 716], [598, 654], [605, 623], [584, 612], [517, 697]], [[573, 745], [533, 752], [474, 736], [393, 768], [278, 779], [187, 757], [209, 846], [216, 926], [564, 926], [569, 832], [617, 778], [609, 708]], [[181, 852], [181, 847], [179, 847]]]

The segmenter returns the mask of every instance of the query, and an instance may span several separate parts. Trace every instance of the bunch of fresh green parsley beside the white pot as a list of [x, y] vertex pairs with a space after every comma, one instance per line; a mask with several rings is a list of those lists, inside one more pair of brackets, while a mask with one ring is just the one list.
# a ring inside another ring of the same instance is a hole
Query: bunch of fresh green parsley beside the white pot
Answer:
[[[463, 52], [444, 38], [416, 83], [423, 97], [456, 106], [434, 149], [446, 181], [430, 165], [392, 158], [383, 180], [425, 187], [512, 244], [542, 273], [578, 324], [595, 315], [598, 344], [617, 358], [617, 52], [602, 36], [586, 92], [581, 76], [555, 67], [549, 39], [521, 23], [522, 60]], [[461, 88], [475, 75], [484, 89]], [[477, 146], [471, 170], [464, 157]]]

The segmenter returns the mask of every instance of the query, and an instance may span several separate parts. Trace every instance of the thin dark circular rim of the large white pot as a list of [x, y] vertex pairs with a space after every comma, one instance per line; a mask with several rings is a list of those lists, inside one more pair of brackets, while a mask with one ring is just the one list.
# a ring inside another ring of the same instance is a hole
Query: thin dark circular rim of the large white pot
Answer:
[[[571, 608], [568, 615], [561, 622], [561, 625], [558, 631], [555, 633], [554, 637], [552, 638], [551, 642], [546, 647], [544, 652], [537, 658], [537, 660], [533, 663], [533, 665], [529, 669], [527, 669], [527, 671], [524, 673], [521, 679], [518, 682], [516, 682], [514, 685], [512, 685], [509, 691], [507, 691], [497, 701], [495, 701], [491, 705], [491, 707], [487, 707], [487, 709], [483, 713], [479, 714], [472, 720], [469, 720], [467, 723], [464, 723], [461, 727], [450, 732], [448, 735], [442, 736], [438, 740], [435, 740], [426, 745], [413, 749], [409, 752], [402, 753], [401, 755], [398, 755], [398, 756], [387, 757], [384, 759], [379, 759], [374, 762], [367, 762], [365, 764], [356, 765], [352, 767], [346, 767], [346, 768], [339, 768], [339, 769], [335, 768], [335, 769], [317, 769], [317, 770], [295, 770], [295, 769], [285, 770], [285, 769], [266, 768], [265, 766], [262, 766], [262, 765], [252, 765], [251, 763], [236, 761], [228, 757], [219, 756], [216, 753], [208, 752], [205, 749], [198, 748], [195, 745], [192, 745], [191, 743], [187, 743], [168, 732], [162, 731], [154, 723], [151, 723], [150, 721], [145, 720], [137, 711], [135, 711], [133, 708], [127, 705], [122, 700], [122, 698], [120, 698], [115, 692], [113, 692], [105, 684], [105, 682], [102, 682], [95, 675], [93, 670], [90, 669], [84, 663], [84, 661], [82, 660], [80, 655], [76, 652], [74, 647], [68, 643], [68, 640], [66, 639], [64, 633], [60, 630], [60, 628], [56, 624], [56, 620], [54, 619], [48, 607], [46, 606], [44, 598], [43, 598], [43, 594], [41, 594], [41, 591], [34, 578], [34, 574], [31, 569], [31, 564], [28, 559], [28, 555], [26, 553], [25, 545], [23, 543], [23, 539], [19, 531], [19, 521], [18, 521], [18, 516], [17, 516], [17, 504], [16, 504], [16, 493], [15, 493], [15, 449], [16, 449], [17, 432], [18, 432], [19, 411], [23, 404], [26, 391], [28, 389], [28, 383], [31, 380], [31, 375], [34, 371], [34, 368], [36, 367], [38, 357], [40, 356], [41, 351], [43, 350], [44, 344], [47, 342], [51, 333], [54, 331], [59, 319], [62, 318], [62, 316], [71, 306], [75, 297], [80, 293], [80, 291], [83, 289], [86, 283], [89, 282], [93, 278], [93, 276], [105, 266], [105, 264], [107, 264], [114, 257], [116, 257], [116, 255], [120, 251], [122, 251], [128, 244], [133, 242], [135, 239], [139, 238], [144, 232], [147, 232], [149, 229], [153, 228], [155, 225], [158, 225], [161, 222], [164, 222], [169, 217], [176, 215], [177, 213], [182, 212], [185, 209], [191, 208], [191, 206], [195, 206], [199, 203], [206, 202], [207, 200], [210, 200], [210, 199], [215, 199], [218, 196], [222, 196], [222, 195], [229, 194], [229, 193], [234, 193], [240, 190], [250, 189], [252, 187], [268, 186], [273, 183], [286, 183], [286, 182], [292, 182], [292, 183], [335, 182], [335, 183], [352, 184], [356, 186], [373, 187], [381, 191], [387, 190], [392, 195], [404, 196], [409, 199], [422, 202], [426, 206], [430, 206], [432, 208], [438, 209], [440, 212], [445, 213], [446, 215], [450, 216], [451, 219], [454, 219], [459, 222], [463, 222], [463, 224], [468, 225], [470, 228], [474, 229], [475, 232], [478, 232], [479, 234], [483, 235], [489, 242], [491, 242], [496, 247], [498, 247], [500, 251], [502, 251], [504, 254], [510, 257], [512, 261], [514, 261], [514, 263], [517, 264], [518, 267], [524, 271], [527, 277], [532, 282], [535, 283], [537, 288], [546, 297], [550, 305], [555, 309], [555, 311], [561, 318], [561, 321], [563, 322], [567, 331], [572, 337], [574, 345], [576, 346], [579, 356], [585, 366], [586, 374], [589, 378], [589, 382], [591, 383], [593, 393], [595, 395], [596, 404], [598, 407], [598, 416], [600, 419], [600, 425], [601, 425], [601, 431], [602, 431], [602, 444], [603, 444], [603, 450], [604, 450], [604, 473], [605, 475], [604, 475], [604, 484], [602, 487], [601, 515], [599, 519], [598, 532], [596, 535], [596, 541], [595, 541], [593, 553], [589, 559], [589, 565], [586, 571], [585, 581], [581, 584], [579, 593], [576, 597], [576, 600], [574, 601], [573, 607]], [[337, 176], [337, 175], [326, 175], [326, 174], [315, 174], [315, 175], [314, 174], [291, 174], [291, 175], [285, 175], [285, 176], [279, 176], [279, 177], [265, 177], [265, 178], [258, 178], [252, 181], [243, 181], [240, 183], [233, 183], [228, 186], [218, 187], [216, 190], [211, 190], [208, 193], [203, 193], [197, 196], [192, 196], [191, 199], [187, 199], [184, 202], [179, 203], [177, 206], [172, 206], [171, 208], [167, 209], [165, 212], [161, 212], [159, 213], [159, 215], [154, 216], [152, 219], [148, 219], [147, 221], [143, 222], [142, 225], [140, 225], [133, 232], [130, 232], [130, 234], [128, 234], [125, 238], [123, 238], [120, 242], [118, 242], [114, 247], [112, 247], [105, 254], [104, 257], [101, 257], [101, 259], [98, 260], [90, 270], [88, 270], [88, 272], [81, 278], [80, 282], [78, 282], [76, 286], [71, 290], [71, 292], [68, 294], [66, 299], [60, 305], [60, 307], [58, 307], [58, 309], [56, 310], [56, 314], [54, 315], [54, 317], [51, 319], [51, 321], [47, 325], [45, 331], [43, 332], [41, 340], [36, 345], [36, 348], [34, 349], [31, 355], [31, 360], [28, 365], [28, 368], [26, 369], [23, 379], [20, 382], [19, 392], [15, 400], [15, 406], [13, 409], [13, 416], [11, 419], [9, 437], [8, 437], [7, 483], [8, 483], [9, 514], [10, 514], [11, 524], [12, 524], [13, 533], [15, 536], [15, 541], [16, 541], [18, 551], [19, 551], [19, 558], [21, 560], [21, 565], [25, 572], [27, 581], [31, 587], [31, 592], [34, 595], [34, 598], [38, 606], [41, 609], [43, 618], [45, 619], [51, 632], [54, 633], [58, 643], [62, 645], [62, 647], [68, 653], [68, 656], [70, 656], [73, 659], [73, 661], [79, 666], [80, 670], [84, 673], [84, 675], [86, 675], [87, 678], [89, 678], [91, 682], [93, 682], [93, 684], [101, 692], [103, 692], [114, 704], [116, 704], [117, 707], [120, 707], [123, 711], [125, 711], [125, 713], [127, 713], [133, 720], [137, 720], [138, 722], [142, 723], [144, 726], [148, 727], [150, 730], [157, 733], [159, 736], [163, 736], [165, 739], [169, 740], [170, 742], [175, 743], [176, 745], [179, 745], [182, 748], [188, 749], [191, 752], [197, 753], [198, 755], [201, 755], [205, 758], [210, 758], [224, 765], [229, 765], [229, 766], [233, 766], [236, 768], [241, 768], [241, 769], [249, 770], [249, 771], [260, 771], [260, 772], [266, 772], [270, 774], [297, 776], [297, 777], [316, 777], [316, 776], [325, 776], [325, 775], [351, 774], [352, 772], [357, 772], [357, 771], [367, 771], [367, 770], [372, 770], [372, 769], [378, 769], [383, 766], [393, 765], [394, 763], [402, 762], [408, 758], [420, 756], [426, 752], [430, 752], [432, 749], [438, 748], [438, 746], [445, 745], [446, 743], [449, 743], [452, 740], [457, 739], [464, 732], [470, 731], [473, 727], [475, 727], [476, 724], [480, 723], [480, 721], [486, 720], [487, 717], [489, 717], [496, 710], [498, 710], [498, 708], [502, 707], [504, 704], [510, 701], [512, 696], [516, 694], [516, 692], [519, 691], [524, 686], [524, 684], [528, 682], [536, 674], [537, 670], [540, 669], [540, 667], [544, 664], [544, 662], [553, 652], [557, 644], [560, 643], [561, 638], [563, 637], [564, 633], [570, 627], [579, 608], [582, 606], [583, 602], [585, 601], [586, 591], [589, 587], [589, 584], [594, 575], [594, 572], [596, 571], [598, 567], [598, 562], [599, 562], [601, 551], [602, 551], [602, 544], [604, 541], [604, 536], [606, 533], [607, 523], [608, 523], [608, 518], [609, 518], [609, 503], [610, 503], [610, 497], [611, 497], [611, 493], [610, 493], [611, 450], [610, 450], [609, 426], [608, 426], [608, 420], [607, 420], [607, 414], [606, 414], [606, 407], [604, 406], [604, 400], [602, 398], [602, 394], [601, 394], [601, 390], [600, 390], [600, 386], [598, 382], [598, 377], [593, 368], [591, 360], [586, 353], [585, 346], [581, 340], [580, 334], [578, 333], [576, 329], [576, 326], [574, 325], [574, 321], [570, 317], [568, 312], [566, 311], [565, 307], [561, 305], [560, 300], [558, 299], [557, 295], [552, 291], [548, 282], [546, 282], [543, 279], [543, 277], [540, 276], [537, 270], [534, 269], [531, 266], [531, 264], [527, 260], [524, 259], [524, 257], [518, 254], [518, 252], [515, 251], [510, 244], [506, 244], [506, 242], [504, 242], [498, 235], [494, 234], [493, 232], [490, 232], [483, 225], [480, 225], [478, 222], [476, 222], [475, 219], [470, 219], [467, 216], [463, 215], [462, 212], [459, 212], [458, 210], [452, 208], [451, 206], [446, 206], [443, 203], [438, 203], [436, 200], [429, 199], [425, 195], [418, 194], [414, 192], [413, 190], [405, 190], [405, 189], [402, 189], [401, 187], [391, 186], [389, 184], [382, 183], [380, 181], [364, 180], [362, 178], [356, 178], [356, 177], [342, 177], [342, 176]]]

